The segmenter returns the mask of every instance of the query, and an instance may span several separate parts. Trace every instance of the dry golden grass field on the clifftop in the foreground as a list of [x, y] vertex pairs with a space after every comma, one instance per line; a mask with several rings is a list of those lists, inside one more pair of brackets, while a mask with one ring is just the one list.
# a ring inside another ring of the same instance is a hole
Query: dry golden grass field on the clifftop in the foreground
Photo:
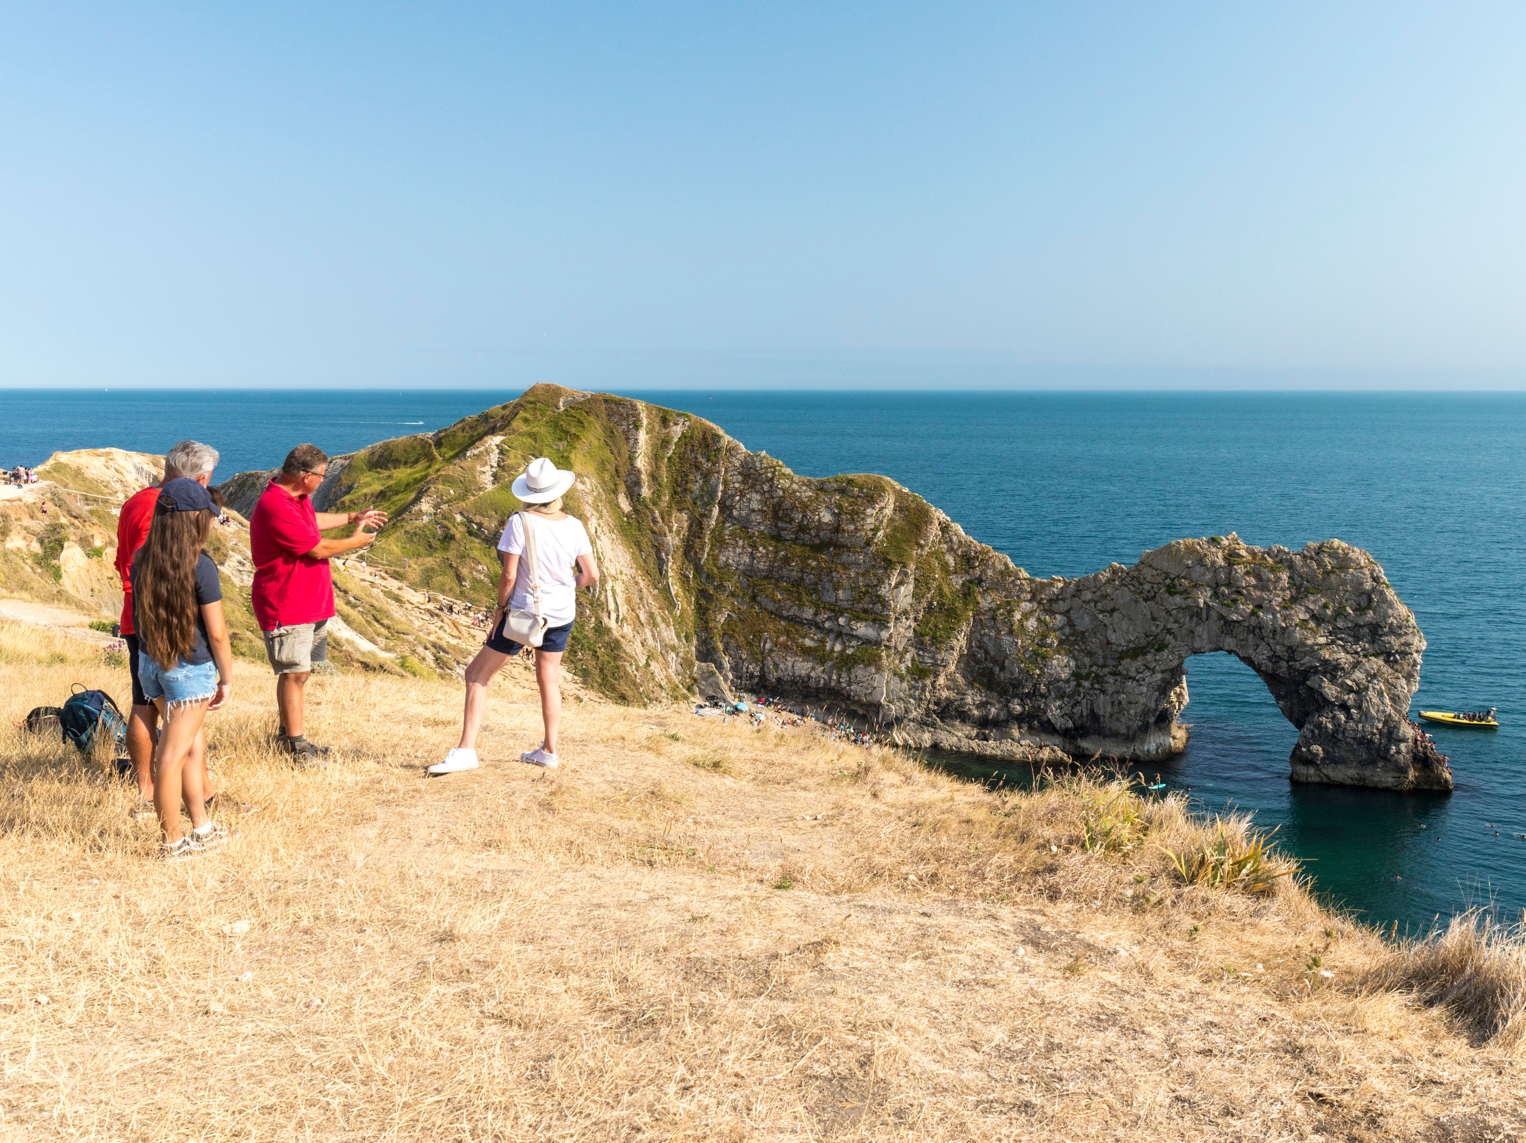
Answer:
[[1276, 858], [1215, 884], [1244, 824], [681, 708], [572, 697], [563, 768], [534, 771], [530, 675], [507, 675], [484, 768], [427, 780], [456, 685], [314, 679], [334, 761], [298, 774], [240, 662], [211, 752], [258, 810], [163, 867], [130, 784], [11, 729], [75, 681], [125, 696], [125, 668], [0, 624], [5, 1137], [1526, 1131], [1509, 934], [1395, 951], [1293, 877], [1248, 891]]

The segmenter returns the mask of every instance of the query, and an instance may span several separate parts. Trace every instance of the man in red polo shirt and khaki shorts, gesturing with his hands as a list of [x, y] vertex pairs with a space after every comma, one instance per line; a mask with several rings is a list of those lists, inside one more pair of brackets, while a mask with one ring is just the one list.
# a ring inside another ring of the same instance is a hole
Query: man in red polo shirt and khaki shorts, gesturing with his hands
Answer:
[[[302, 694], [314, 662], [328, 658], [327, 624], [334, 617], [331, 555], [365, 548], [386, 513], [327, 513], [313, 508], [313, 493], [328, 473], [328, 455], [316, 444], [299, 444], [287, 453], [281, 475], [249, 517], [249, 549], [255, 562], [250, 584], [255, 621], [266, 636], [266, 656], [276, 673], [276, 710], [281, 731], [276, 745], [302, 766], [327, 766], [327, 746], [304, 736]], [[354, 525], [342, 540], [325, 540], [324, 531]]]

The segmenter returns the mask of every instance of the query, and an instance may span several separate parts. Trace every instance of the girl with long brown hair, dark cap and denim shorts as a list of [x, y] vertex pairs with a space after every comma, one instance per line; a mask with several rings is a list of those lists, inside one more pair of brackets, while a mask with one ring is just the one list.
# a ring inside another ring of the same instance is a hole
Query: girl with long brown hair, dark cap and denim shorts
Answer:
[[[212, 497], [200, 484], [183, 476], [165, 481], [148, 540], [133, 559], [137, 675], [165, 720], [154, 748], [162, 861], [198, 858], [230, 836], [208, 816], [197, 749], [206, 713], [227, 705], [233, 678], [217, 565], [201, 551], [214, 516]], [[186, 836], [182, 801], [191, 815]]]

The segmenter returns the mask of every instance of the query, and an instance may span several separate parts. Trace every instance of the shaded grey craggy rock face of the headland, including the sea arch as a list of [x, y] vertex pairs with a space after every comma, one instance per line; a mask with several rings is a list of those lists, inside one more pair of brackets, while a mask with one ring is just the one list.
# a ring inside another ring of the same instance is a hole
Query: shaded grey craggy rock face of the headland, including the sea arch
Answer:
[[1181, 749], [1186, 659], [1227, 652], [1299, 728], [1297, 781], [1450, 789], [1408, 705], [1425, 639], [1366, 552], [1177, 540], [1035, 580], [882, 478], [725, 465], [702, 528], [711, 636], [734, 681], [835, 697], [916, 745], [1149, 760]]

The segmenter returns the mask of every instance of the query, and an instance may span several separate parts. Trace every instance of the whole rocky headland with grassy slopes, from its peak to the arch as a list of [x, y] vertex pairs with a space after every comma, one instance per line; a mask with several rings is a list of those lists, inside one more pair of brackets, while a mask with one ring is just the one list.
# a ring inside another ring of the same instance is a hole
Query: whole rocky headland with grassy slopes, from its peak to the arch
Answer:
[[[537, 455], [581, 473], [568, 510], [606, 592], [581, 604], [569, 662], [606, 693], [673, 694], [703, 662], [913, 745], [1157, 758], [1186, 742], [1184, 661], [1228, 652], [1300, 729], [1296, 780], [1451, 787], [1407, 720], [1425, 639], [1340, 540], [1177, 540], [1132, 568], [1035, 580], [884, 476], [807, 479], [696, 417], [557, 386], [337, 458], [324, 507], [386, 508], [377, 560], [487, 603], [519, 507], [508, 482]], [[258, 485], [226, 488], [247, 510]]]

